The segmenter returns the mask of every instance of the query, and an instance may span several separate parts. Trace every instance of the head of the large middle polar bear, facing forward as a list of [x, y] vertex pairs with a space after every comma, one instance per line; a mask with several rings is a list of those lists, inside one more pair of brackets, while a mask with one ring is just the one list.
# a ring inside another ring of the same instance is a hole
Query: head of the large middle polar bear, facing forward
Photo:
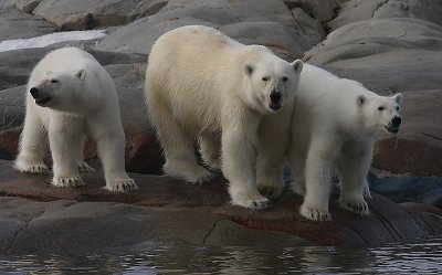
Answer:
[[245, 92], [245, 102], [261, 113], [277, 112], [284, 103], [294, 97], [304, 63], [301, 60], [288, 63], [264, 46], [250, 47], [259, 54], [244, 65], [244, 73], [251, 86], [251, 89]]

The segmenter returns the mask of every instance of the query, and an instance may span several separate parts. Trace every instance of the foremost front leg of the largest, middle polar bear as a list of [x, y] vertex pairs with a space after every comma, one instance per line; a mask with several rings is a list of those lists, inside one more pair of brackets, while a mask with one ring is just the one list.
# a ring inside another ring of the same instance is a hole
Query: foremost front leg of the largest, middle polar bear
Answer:
[[257, 126], [256, 114], [236, 116], [224, 120], [222, 127], [222, 172], [230, 181], [229, 193], [232, 204], [266, 209], [269, 200], [260, 194], [256, 188], [256, 150]]

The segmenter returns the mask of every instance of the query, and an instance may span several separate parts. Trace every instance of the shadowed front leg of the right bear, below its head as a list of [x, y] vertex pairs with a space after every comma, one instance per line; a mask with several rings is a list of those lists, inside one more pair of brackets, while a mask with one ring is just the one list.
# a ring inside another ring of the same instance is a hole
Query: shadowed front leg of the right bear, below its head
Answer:
[[340, 178], [340, 207], [360, 214], [369, 215], [365, 198], [370, 198], [367, 174], [372, 157], [373, 141], [355, 142], [347, 146], [338, 161]]

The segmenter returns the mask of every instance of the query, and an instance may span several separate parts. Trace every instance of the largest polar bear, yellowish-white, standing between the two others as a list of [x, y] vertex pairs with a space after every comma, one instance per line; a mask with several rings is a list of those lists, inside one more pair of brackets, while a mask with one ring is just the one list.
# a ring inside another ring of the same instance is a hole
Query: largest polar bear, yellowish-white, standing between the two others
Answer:
[[[256, 188], [257, 129], [263, 116], [292, 102], [302, 67], [302, 61], [287, 63], [265, 46], [243, 45], [202, 25], [160, 36], [149, 54], [146, 103], [165, 172], [188, 182], [211, 179], [194, 156], [199, 139], [203, 160], [222, 166], [232, 203], [266, 208], [269, 200]], [[282, 140], [270, 142], [284, 156]]]

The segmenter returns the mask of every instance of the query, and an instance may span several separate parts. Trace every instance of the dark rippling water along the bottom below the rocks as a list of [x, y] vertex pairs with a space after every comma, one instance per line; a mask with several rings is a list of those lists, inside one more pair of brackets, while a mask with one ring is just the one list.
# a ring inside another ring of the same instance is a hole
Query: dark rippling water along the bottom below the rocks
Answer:
[[442, 274], [442, 237], [378, 247], [154, 246], [0, 256], [0, 274]]

